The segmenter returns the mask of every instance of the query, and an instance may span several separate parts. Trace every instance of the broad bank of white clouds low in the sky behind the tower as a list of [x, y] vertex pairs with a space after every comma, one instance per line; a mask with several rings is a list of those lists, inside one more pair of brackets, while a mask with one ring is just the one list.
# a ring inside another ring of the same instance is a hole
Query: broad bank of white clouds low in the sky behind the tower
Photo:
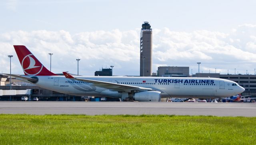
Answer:
[[[11, 31], [0, 34], [0, 71], [8, 73], [9, 59], [14, 55], [12, 70], [23, 73], [12, 45], [26, 45], [52, 71], [76, 73], [80, 58], [80, 74], [94, 75], [100, 68], [114, 65], [115, 75], [139, 75], [140, 29], [130, 31], [92, 31], [70, 35], [68, 31]], [[254, 70], [256, 63], [256, 25], [244, 24], [230, 33], [197, 30], [170, 31], [153, 29], [153, 72], [158, 66], [188, 66], [193, 73], [201, 62], [202, 71], [232, 70], [240, 73]], [[233, 71], [230, 71], [233, 72]]]

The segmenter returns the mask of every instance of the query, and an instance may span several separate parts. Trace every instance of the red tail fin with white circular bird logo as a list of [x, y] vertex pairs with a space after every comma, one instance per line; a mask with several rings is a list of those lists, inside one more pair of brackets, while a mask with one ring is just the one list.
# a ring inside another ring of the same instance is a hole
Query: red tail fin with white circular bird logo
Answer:
[[20, 60], [21, 67], [25, 75], [35, 76], [56, 76], [50, 72], [36, 57], [23, 45], [14, 45], [14, 49]]

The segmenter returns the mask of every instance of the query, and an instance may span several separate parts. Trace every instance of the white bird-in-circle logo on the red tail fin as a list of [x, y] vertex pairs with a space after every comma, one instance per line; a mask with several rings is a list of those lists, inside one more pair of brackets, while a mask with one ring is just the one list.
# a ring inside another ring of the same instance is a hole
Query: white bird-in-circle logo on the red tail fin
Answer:
[[42, 71], [43, 65], [40, 62], [36, 62], [35, 59], [32, 54], [26, 55], [23, 58], [21, 65], [24, 73], [27, 75], [36, 75]]

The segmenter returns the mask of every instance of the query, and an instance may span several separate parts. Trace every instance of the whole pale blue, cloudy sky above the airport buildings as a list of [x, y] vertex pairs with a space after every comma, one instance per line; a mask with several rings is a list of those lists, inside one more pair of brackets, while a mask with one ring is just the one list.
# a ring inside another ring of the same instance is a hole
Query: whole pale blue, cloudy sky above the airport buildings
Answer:
[[140, 29], [153, 31], [153, 72], [254, 74], [255, 0], [2, 0], [0, 73], [24, 74], [13, 45], [26, 47], [52, 72], [140, 75]]

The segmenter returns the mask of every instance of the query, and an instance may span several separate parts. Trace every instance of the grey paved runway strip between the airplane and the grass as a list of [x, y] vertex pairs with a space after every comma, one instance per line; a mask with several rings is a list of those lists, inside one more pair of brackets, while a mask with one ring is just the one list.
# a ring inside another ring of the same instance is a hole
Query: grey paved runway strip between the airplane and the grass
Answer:
[[168, 114], [256, 117], [255, 103], [0, 102], [0, 114]]

